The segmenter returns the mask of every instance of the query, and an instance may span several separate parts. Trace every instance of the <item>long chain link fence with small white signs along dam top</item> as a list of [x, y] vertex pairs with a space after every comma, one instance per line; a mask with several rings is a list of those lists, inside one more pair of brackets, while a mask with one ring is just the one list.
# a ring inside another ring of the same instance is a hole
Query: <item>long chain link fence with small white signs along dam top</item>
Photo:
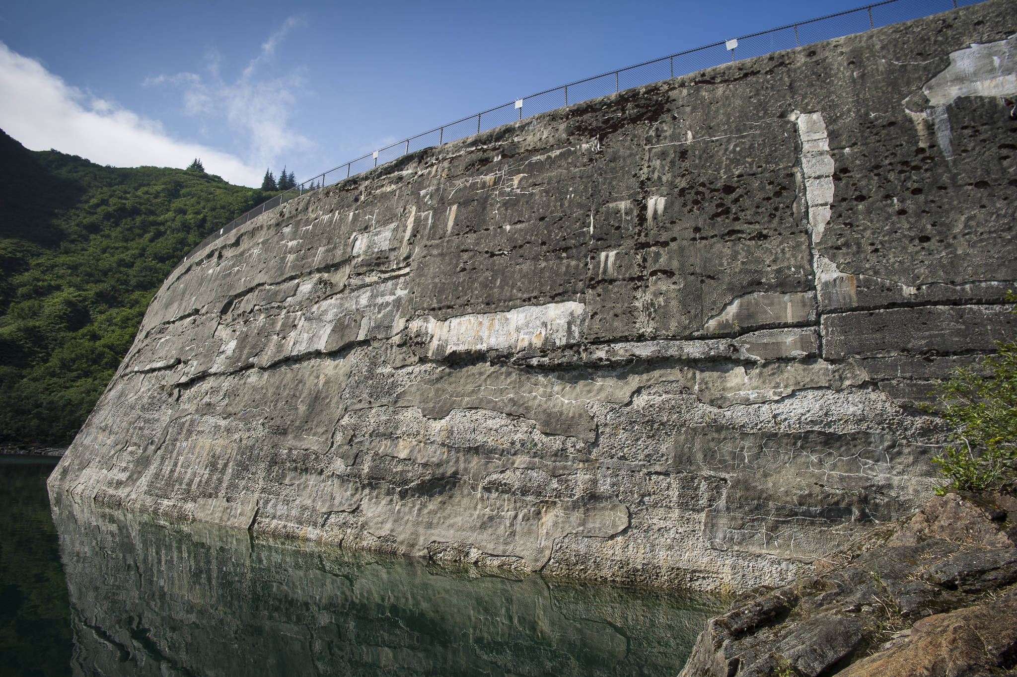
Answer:
[[[234, 219], [228, 225], [205, 238], [191, 254], [215, 242], [230, 231], [243, 226], [251, 219], [279, 206], [311, 190], [317, 190], [343, 179], [383, 165], [407, 153], [433, 145], [456, 141], [472, 134], [499, 127], [510, 122], [522, 120], [556, 108], [578, 104], [590, 99], [604, 97], [621, 89], [659, 82], [678, 75], [695, 73], [705, 68], [718, 66], [739, 59], [763, 56], [771, 52], [793, 49], [802, 45], [840, 38], [855, 33], [863, 33], [890, 23], [898, 23], [913, 18], [929, 16], [938, 12], [955, 9], [958, 6], [974, 5], [982, 0], [885, 0], [836, 14], [828, 14], [782, 25], [778, 28], [762, 30], [747, 36], [724, 40], [693, 50], [669, 54], [659, 59], [645, 61], [618, 70], [612, 70], [593, 77], [576, 80], [567, 84], [545, 89], [537, 94], [517, 99], [475, 113], [466, 118], [429, 129], [428, 131], [397, 141], [374, 152], [334, 167], [304, 181], [296, 188], [276, 195], [250, 211]], [[185, 256], [177, 265], [182, 265], [191, 255]]]

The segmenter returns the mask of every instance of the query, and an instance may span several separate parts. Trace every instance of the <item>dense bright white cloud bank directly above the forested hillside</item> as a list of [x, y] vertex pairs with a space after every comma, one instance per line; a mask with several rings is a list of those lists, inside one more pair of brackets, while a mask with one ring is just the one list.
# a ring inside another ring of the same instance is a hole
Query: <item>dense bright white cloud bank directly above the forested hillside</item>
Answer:
[[174, 139], [160, 122], [115, 102], [85, 95], [3, 43], [0, 101], [0, 128], [28, 148], [56, 148], [116, 167], [183, 168], [200, 158], [206, 171], [227, 181], [261, 184], [262, 159], [249, 163], [228, 152]]

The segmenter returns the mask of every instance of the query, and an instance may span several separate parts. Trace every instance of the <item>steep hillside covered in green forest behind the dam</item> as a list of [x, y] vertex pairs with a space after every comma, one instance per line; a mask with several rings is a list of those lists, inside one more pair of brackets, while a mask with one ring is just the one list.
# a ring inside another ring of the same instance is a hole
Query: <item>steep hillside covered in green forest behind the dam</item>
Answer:
[[0, 444], [67, 444], [194, 245], [270, 194], [0, 131]]

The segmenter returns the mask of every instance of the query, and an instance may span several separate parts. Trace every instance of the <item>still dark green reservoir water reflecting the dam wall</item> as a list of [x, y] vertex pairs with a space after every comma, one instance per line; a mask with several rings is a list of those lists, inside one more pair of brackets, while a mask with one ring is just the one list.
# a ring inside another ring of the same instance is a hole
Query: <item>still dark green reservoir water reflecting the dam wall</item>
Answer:
[[0, 456], [2, 675], [668, 675], [708, 596], [175, 524], [63, 495]]

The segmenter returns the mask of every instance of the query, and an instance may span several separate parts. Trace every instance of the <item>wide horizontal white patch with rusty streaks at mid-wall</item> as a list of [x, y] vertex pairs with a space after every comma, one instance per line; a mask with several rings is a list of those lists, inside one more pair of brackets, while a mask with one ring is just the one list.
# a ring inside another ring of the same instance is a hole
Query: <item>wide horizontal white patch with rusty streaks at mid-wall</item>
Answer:
[[586, 304], [566, 301], [446, 320], [428, 315], [410, 322], [409, 331], [429, 342], [428, 357], [441, 359], [461, 352], [566, 346], [580, 341], [585, 323]]

